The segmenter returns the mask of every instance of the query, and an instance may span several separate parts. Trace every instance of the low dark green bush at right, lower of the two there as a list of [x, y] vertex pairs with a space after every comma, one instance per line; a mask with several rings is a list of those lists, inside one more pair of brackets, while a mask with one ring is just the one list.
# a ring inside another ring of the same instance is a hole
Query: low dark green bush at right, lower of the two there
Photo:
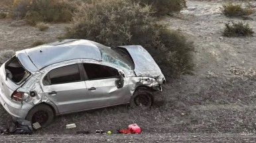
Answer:
[[223, 32], [224, 36], [253, 36], [253, 30], [249, 27], [249, 24], [244, 24], [243, 22], [232, 22], [225, 24], [225, 29]]

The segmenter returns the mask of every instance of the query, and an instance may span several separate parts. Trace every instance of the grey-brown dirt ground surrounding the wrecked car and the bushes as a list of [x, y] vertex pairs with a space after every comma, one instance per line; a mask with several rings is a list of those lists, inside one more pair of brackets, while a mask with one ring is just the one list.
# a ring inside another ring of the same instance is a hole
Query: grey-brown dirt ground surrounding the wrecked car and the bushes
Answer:
[[[56, 117], [54, 123], [31, 136], [0, 135], [0, 142], [255, 142], [256, 38], [225, 38], [224, 24], [248, 22], [256, 31], [256, 15], [249, 20], [222, 14], [222, 1], [188, 1], [188, 8], [161, 22], [194, 41], [194, 73], [170, 80], [149, 111], [126, 105]], [[256, 5], [255, 2], [251, 2]], [[22, 21], [0, 20], [0, 48], [24, 49], [36, 40], [52, 42], [68, 24], [50, 24], [40, 32]], [[11, 117], [0, 107], [0, 126]], [[76, 129], [65, 129], [76, 123]], [[115, 134], [137, 123], [142, 134]], [[96, 135], [96, 129], [111, 135]], [[91, 134], [76, 134], [89, 130]]]

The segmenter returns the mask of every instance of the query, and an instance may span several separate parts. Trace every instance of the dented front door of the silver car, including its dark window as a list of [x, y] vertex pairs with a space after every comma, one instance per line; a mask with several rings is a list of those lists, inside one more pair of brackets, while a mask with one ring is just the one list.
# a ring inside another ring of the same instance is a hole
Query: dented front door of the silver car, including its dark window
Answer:
[[86, 86], [88, 88], [88, 107], [104, 107], [127, 103], [130, 99], [129, 88], [117, 88], [119, 71], [105, 65], [84, 63]]

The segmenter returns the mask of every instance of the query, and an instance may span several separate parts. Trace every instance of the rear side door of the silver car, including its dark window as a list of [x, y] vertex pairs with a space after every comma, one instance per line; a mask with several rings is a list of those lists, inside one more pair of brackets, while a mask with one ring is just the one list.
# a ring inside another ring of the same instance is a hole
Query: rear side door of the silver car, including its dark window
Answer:
[[86, 84], [78, 64], [52, 69], [42, 80], [42, 90], [60, 113], [86, 109]]

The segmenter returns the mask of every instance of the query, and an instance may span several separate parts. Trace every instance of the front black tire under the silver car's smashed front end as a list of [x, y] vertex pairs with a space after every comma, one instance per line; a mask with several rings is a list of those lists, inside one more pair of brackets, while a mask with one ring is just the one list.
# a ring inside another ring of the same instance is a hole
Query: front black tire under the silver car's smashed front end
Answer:
[[130, 107], [141, 107], [142, 109], [149, 109], [153, 105], [153, 94], [148, 89], [138, 89], [133, 93], [130, 100]]

